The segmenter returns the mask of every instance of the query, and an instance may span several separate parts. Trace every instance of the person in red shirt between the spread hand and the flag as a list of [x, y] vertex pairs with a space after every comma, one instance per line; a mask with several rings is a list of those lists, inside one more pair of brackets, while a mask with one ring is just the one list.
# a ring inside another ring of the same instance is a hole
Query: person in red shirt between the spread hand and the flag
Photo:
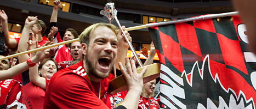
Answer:
[[156, 79], [144, 84], [143, 90], [140, 95], [139, 107], [138, 109], [151, 108], [159, 109], [158, 104], [160, 99], [154, 99], [152, 95], [154, 94], [154, 89], [156, 85]]

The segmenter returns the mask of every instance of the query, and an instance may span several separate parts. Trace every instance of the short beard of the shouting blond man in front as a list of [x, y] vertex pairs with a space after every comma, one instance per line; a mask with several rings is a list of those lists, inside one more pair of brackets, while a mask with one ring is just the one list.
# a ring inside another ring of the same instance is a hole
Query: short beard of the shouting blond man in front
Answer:
[[109, 77], [109, 74], [113, 69], [113, 66], [110, 66], [110, 70], [109, 70], [109, 72], [107, 72], [107, 75], [104, 75], [104, 74], [102, 75], [102, 74], [99, 74], [99, 73], [96, 72], [96, 70], [95, 70], [96, 67], [92, 64], [92, 62], [90, 62], [88, 60], [87, 55], [86, 55], [84, 60], [86, 61], [87, 70], [88, 70], [86, 72], [90, 72], [90, 74], [94, 75], [96, 78], [107, 78], [107, 77]]

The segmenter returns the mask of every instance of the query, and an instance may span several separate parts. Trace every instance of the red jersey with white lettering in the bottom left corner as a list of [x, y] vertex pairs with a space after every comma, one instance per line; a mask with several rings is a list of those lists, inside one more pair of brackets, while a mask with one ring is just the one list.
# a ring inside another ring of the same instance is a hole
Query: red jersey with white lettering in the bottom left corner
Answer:
[[17, 108], [21, 108], [20, 95], [21, 84], [16, 80], [4, 80], [0, 82], [0, 108], [10, 108], [17, 105]]

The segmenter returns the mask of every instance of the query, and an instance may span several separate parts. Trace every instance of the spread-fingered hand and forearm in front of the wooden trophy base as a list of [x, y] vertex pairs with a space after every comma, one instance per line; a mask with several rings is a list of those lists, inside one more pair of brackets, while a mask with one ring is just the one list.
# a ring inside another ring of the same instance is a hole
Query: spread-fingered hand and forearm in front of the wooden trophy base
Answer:
[[123, 102], [120, 105], [126, 108], [138, 108], [140, 94], [143, 88], [143, 74], [145, 73], [147, 68], [145, 67], [143, 71], [141, 71], [141, 73], [138, 74], [136, 71], [136, 65], [134, 60], [131, 60], [131, 63], [129, 62], [128, 57], [126, 57], [125, 60], [127, 70], [123, 68], [121, 62], [119, 63], [119, 66], [124, 77], [126, 78], [128, 93], [126, 95], [126, 98], [124, 98]]

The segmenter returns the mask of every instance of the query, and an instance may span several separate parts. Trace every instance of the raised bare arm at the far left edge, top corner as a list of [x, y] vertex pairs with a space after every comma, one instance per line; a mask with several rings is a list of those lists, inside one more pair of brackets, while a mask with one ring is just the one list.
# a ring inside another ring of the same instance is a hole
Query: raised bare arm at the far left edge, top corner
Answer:
[[17, 42], [15, 39], [9, 39], [8, 35], [8, 16], [5, 14], [4, 10], [0, 10], [0, 19], [2, 23], [2, 32], [4, 32], [5, 45], [9, 48], [15, 48]]

